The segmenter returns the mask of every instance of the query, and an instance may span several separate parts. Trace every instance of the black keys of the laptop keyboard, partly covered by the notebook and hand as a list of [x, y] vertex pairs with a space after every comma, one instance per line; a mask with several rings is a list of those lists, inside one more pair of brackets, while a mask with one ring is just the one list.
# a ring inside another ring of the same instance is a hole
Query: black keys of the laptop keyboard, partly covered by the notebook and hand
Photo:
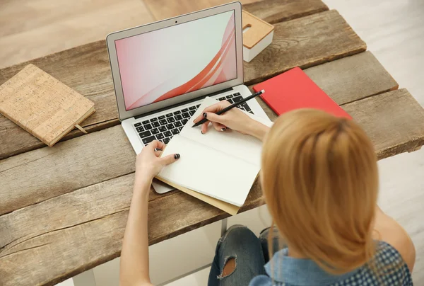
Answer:
[[[227, 100], [230, 103], [235, 103], [242, 99], [240, 93], [237, 92], [228, 96], [223, 96], [219, 98], [219, 101]], [[141, 142], [143, 142], [144, 146], [153, 140], [158, 140], [167, 144], [174, 135], [177, 135], [182, 130], [182, 127], [192, 118], [199, 106], [200, 104], [193, 105], [189, 108], [182, 108], [182, 110], [160, 115], [157, 118], [136, 122], [134, 123], [134, 127], [139, 133]], [[238, 108], [253, 114], [247, 103], [242, 103]]]

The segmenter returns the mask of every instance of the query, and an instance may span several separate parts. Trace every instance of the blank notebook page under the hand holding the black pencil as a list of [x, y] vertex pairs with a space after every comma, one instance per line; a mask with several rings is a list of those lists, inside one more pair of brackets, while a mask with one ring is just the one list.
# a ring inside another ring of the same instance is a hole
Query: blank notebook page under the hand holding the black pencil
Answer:
[[[234, 130], [228, 130], [225, 132], [216, 131], [212, 125], [208, 126], [208, 132], [206, 132], [206, 134], [201, 134], [200, 126], [192, 128], [194, 125], [193, 120], [203, 113], [205, 108], [218, 102], [219, 101], [216, 101], [216, 99], [206, 97], [197, 109], [196, 113], [194, 113], [189, 122], [187, 122], [181, 130], [180, 135], [208, 147], [222, 151], [226, 154], [236, 156], [237, 158], [243, 159], [255, 166], [261, 166], [262, 142], [259, 139], [250, 135], [243, 135]], [[270, 120], [259, 118], [258, 116], [250, 113], [247, 113], [247, 115], [264, 125], [272, 125]]]

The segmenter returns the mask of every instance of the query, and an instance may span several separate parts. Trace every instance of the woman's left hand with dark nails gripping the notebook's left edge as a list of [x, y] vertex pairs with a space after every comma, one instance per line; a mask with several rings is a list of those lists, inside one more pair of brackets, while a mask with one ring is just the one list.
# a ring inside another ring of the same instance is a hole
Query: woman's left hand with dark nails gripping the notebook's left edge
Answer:
[[165, 147], [164, 143], [153, 141], [141, 150], [136, 160], [136, 181], [153, 180], [164, 166], [172, 164], [179, 159], [179, 154], [170, 154], [160, 158], [160, 154]]

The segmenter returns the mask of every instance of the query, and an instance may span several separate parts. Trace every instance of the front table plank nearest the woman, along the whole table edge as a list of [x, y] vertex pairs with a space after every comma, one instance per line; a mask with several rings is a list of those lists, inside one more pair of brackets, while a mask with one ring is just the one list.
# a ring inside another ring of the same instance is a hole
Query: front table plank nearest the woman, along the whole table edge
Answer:
[[[343, 108], [370, 135], [379, 159], [424, 144], [424, 110], [406, 89], [346, 103]], [[89, 137], [81, 139], [85, 138]], [[119, 256], [133, 182], [134, 174], [112, 178], [0, 217], [0, 225], [5, 226], [0, 236], [0, 284], [53, 285]], [[181, 192], [152, 195], [149, 244], [228, 216]], [[257, 181], [241, 211], [261, 204]], [[43, 268], [38, 267], [39, 261]]]

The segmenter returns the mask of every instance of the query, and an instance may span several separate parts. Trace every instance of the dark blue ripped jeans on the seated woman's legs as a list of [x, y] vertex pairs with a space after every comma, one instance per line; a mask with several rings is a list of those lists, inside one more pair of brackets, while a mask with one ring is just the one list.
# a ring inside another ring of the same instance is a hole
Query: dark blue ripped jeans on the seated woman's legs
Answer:
[[[264, 265], [269, 261], [268, 233], [269, 228], [264, 229], [258, 238], [245, 226], [230, 227], [216, 245], [208, 286], [247, 286], [255, 276], [265, 275]], [[276, 251], [278, 238], [274, 235], [273, 253]], [[224, 271], [226, 263], [235, 267]]]

